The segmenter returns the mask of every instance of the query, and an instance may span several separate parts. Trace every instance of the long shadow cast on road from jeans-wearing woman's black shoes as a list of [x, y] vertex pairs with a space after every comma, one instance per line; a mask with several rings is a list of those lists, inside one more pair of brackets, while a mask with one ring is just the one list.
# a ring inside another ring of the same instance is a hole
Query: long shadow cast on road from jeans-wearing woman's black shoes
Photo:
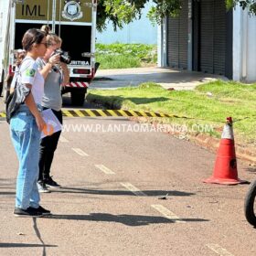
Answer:
[[126, 226], [145, 226], [160, 223], [175, 223], [176, 221], [209, 221], [208, 219], [166, 219], [164, 217], [143, 216], [143, 215], [112, 215], [108, 213], [91, 213], [90, 215], [51, 215], [44, 218], [49, 219], [69, 219], [69, 220], [88, 220], [88, 221], [106, 221], [122, 223]]

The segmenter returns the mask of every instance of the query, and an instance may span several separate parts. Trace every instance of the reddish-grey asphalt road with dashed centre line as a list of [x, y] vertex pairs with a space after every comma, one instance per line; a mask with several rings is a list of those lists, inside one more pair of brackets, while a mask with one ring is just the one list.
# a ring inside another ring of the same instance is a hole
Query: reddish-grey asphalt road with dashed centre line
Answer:
[[[256, 255], [243, 215], [248, 185], [202, 183], [215, 155], [123, 118], [64, 123], [52, 166], [62, 188], [41, 195], [53, 216], [19, 219], [17, 160], [0, 121], [0, 255]], [[240, 178], [255, 171], [239, 163]]]

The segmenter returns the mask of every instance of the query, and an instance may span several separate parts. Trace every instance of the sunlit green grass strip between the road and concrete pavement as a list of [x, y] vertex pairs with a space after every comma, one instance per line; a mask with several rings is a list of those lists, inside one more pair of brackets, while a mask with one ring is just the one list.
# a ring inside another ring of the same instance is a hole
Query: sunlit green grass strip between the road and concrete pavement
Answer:
[[[256, 84], [215, 81], [200, 85], [195, 91], [167, 91], [155, 83], [144, 83], [138, 88], [91, 90], [88, 101], [101, 102], [106, 108], [164, 112], [185, 118], [158, 118], [159, 123], [208, 125], [206, 131], [219, 137], [226, 117], [231, 116], [234, 132], [240, 142], [255, 144]], [[149, 119], [148, 122], [151, 122]]]

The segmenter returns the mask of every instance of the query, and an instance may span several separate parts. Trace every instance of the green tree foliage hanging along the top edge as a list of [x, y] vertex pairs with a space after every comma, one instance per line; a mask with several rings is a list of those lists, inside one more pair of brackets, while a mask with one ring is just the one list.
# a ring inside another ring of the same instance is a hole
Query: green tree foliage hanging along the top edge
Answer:
[[[240, 5], [243, 9], [249, 7], [251, 14], [256, 14], [256, 0], [223, 0], [227, 8]], [[122, 28], [133, 19], [140, 18], [144, 5], [149, 0], [98, 0], [97, 29], [102, 31], [108, 21], [112, 22], [114, 29]], [[180, 0], [153, 0], [155, 5], [148, 13], [152, 22], [160, 24], [167, 15], [178, 16], [181, 9]]]

